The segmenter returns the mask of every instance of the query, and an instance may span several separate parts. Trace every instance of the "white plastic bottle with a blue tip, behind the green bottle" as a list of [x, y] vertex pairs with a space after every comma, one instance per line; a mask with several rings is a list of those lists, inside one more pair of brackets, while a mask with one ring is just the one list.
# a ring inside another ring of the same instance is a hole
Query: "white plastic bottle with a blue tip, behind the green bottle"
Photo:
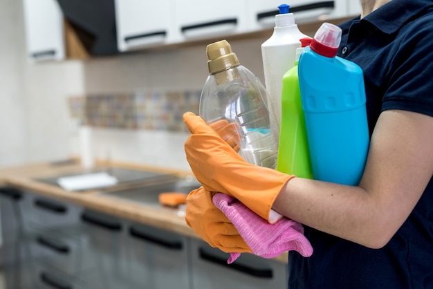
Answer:
[[296, 48], [301, 47], [300, 39], [307, 37], [295, 24], [293, 13], [288, 5], [278, 6], [279, 15], [275, 15], [273, 35], [261, 44], [261, 57], [264, 67], [264, 80], [268, 91], [269, 110], [276, 115], [276, 126], [281, 124], [281, 95], [284, 74], [295, 66]]

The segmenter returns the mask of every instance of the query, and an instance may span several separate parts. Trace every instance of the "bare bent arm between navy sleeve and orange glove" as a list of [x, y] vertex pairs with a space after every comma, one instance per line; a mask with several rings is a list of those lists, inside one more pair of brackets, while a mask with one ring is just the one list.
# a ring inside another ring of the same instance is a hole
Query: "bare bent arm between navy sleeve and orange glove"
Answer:
[[432, 175], [433, 118], [384, 111], [358, 187], [293, 178], [273, 209], [317, 230], [381, 248], [412, 212]]

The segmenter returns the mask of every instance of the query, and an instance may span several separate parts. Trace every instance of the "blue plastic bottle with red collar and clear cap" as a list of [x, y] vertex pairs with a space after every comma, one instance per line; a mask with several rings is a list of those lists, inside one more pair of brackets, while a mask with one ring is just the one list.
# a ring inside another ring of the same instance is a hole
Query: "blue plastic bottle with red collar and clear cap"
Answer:
[[369, 131], [362, 69], [335, 56], [342, 30], [324, 23], [298, 66], [313, 176], [358, 185], [365, 169]]

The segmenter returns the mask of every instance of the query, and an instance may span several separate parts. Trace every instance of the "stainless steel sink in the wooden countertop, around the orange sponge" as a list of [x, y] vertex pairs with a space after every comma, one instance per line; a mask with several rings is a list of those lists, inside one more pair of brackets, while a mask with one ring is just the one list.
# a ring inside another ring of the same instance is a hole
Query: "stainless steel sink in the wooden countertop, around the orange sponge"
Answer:
[[159, 194], [165, 192], [181, 192], [188, 194], [193, 189], [196, 189], [200, 186], [201, 184], [195, 178], [177, 178], [175, 180], [167, 180], [154, 185], [144, 185], [140, 187], [112, 191], [101, 191], [100, 194], [109, 198], [118, 198], [123, 201], [140, 203], [150, 207], [158, 207], [160, 209], [167, 210], [168, 212], [181, 215], [184, 211], [183, 206], [172, 208], [160, 205], [158, 199]]

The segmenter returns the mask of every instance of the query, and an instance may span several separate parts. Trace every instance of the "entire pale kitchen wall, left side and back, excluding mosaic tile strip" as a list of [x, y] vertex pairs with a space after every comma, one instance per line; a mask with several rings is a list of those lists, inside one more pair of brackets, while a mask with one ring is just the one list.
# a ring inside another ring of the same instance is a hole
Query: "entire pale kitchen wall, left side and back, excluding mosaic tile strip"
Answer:
[[[0, 167], [80, 154], [69, 97], [200, 91], [208, 76], [204, 44], [29, 64], [21, 1], [0, 0], [0, 24]], [[262, 81], [260, 44], [268, 36], [230, 41], [241, 63]], [[95, 128], [92, 149], [96, 158], [189, 170], [183, 151], [187, 136], [186, 131]]]

